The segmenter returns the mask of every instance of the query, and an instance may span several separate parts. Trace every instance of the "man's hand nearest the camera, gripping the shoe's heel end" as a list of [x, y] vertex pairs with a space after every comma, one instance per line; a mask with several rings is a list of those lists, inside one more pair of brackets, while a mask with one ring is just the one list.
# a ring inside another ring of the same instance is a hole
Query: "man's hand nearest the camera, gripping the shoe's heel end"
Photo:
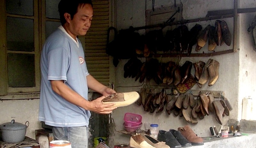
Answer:
[[[110, 89], [110, 88], [109, 88]], [[112, 89], [113, 90], [113, 89]], [[111, 93], [112, 91], [110, 91]], [[114, 92], [115, 93], [115, 92]], [[113, 94], [113, 93], [112, 93]], [[90, 103], [90, 109], [93, 112], [96, 112], [98, 114], [110, 114], [112, 112], [112, 110], [116, 109], [117, 107], [113, 107], [113, 105], [115, 105], [115, 103], [109, 103], [109, 104], [102, 104], [102, 100], [105, 98], [106, 96], [101, 96], [93, 101], [89, 101]]]

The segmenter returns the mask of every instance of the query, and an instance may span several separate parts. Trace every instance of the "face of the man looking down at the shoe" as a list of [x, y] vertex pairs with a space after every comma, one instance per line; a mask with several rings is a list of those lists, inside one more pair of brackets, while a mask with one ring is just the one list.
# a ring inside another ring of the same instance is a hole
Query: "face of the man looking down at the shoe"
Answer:
[[91, 26], [92, 13], [93, 10], [90, 4], [78, 6], [77, 13], [69, 23], [69, 30], [74, 36], [86, 34]]

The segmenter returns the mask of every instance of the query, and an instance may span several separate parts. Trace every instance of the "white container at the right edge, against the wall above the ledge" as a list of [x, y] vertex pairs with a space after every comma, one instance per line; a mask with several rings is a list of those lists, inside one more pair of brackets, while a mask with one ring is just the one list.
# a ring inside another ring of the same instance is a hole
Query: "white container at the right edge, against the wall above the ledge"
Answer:
[[256, 100], [252, 99], [251, 96], [243, 99], [243, 110], [242, 119], [243, 120], [256, 120]]

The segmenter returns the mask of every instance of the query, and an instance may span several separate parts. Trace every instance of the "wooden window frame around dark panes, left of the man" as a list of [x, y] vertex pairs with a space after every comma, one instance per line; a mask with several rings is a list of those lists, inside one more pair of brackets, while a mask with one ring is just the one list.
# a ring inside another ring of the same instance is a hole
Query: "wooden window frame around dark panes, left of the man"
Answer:
[[[40, 93], [40, 41], [39, 41], [39, 12], [38, 12], [38, 0], [33, 0], [33, 16], [24, 16], [17, 14], [8, 14], [6, 11], [6, 1], [0, 2], [1, 9], [0, 18], [4, 20], [0, 25], [0, 99], [19, 99], [19, 98], [30, 98], [35, 94]], [[34, 51], [11, 51], [7, 49], [7, 17], [13, 18], [26, 18], [33, 19], [33, 30], [34, 30]], [[8, 86], [8, 72], [7, 72], [7, 54], [8, 53], [25, 53], [33, 54], [35, 56], [35, 87], [9, 87]], [[14, 97], [14, 95], [16, 97]], [[20, 95], [20, 96], [17, 96]], [[35, 96], [35, 98], [39, 98]]]

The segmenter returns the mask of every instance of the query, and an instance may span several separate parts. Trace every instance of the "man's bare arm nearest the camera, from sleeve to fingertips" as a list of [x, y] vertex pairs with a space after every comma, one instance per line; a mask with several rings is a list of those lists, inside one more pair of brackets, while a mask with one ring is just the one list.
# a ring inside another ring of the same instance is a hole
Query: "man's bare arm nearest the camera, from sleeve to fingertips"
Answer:
[[90, 110], [99, 114], [109, 114], [116, 107], [111, 107], [114, 103], [111, 104], [102, 104], [101, 100], [105, 98], [102, 96], [93, 101], [87, 101], [81, 95], [77, 94], [74, 90], [70, 89], [63, 80], [60, 81], [51, 81], [52, 90], [60, 95], [62, 98], [68, 102], [82, 107], [85, 110]]

